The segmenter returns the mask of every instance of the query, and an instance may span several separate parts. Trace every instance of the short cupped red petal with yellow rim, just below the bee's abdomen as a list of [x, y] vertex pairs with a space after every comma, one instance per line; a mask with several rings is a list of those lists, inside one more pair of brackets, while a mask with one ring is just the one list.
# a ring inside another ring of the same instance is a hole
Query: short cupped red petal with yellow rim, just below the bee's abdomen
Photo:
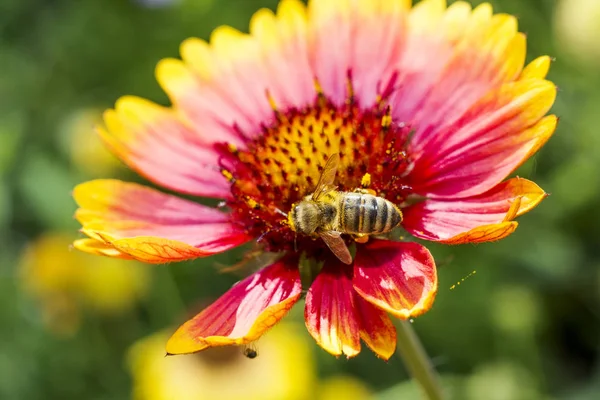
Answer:
[[356, 251], [354, 289], [398, 318], [429, 310], [437, 283], [433, 257], [418, 243], [373, 240]]

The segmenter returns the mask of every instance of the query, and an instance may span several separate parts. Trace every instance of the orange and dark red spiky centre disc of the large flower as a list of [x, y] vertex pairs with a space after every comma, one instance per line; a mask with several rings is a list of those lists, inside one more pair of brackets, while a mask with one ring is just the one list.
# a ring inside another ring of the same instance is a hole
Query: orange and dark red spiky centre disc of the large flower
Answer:
[[403, 177], [410, 160], [405, 151], [409, 129], [392, 123], [383, 102], [361, 109], [352, 99], [336, 106], [319, 96], [314, 104], [285, 113], [274, 111], [273, 122], [245, 150], [223, 146], [223, 175], [231, 182], [233, 220], [261, 237], [268, 251], [323, 247], [300, 237], [287, 225], [292, 204], [311, 194], [325, 162], [340, 155], [337, 190], [361, 187], [365, 174], [370, 188], [396, 204], [409, 194]]

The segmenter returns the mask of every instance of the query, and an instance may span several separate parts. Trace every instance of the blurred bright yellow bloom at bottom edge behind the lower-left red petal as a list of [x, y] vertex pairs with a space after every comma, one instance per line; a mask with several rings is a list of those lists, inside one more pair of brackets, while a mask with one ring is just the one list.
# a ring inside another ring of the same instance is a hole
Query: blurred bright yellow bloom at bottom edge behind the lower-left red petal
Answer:
[[303, 326], [277, 325], [257, 342], [254, 359], [246, 358], [242, 347], [229, 346], [165, 357], [168, 337], [169, 332], [157, 333], [131, 348], [135, 400], [315, 398], [315, 361]]

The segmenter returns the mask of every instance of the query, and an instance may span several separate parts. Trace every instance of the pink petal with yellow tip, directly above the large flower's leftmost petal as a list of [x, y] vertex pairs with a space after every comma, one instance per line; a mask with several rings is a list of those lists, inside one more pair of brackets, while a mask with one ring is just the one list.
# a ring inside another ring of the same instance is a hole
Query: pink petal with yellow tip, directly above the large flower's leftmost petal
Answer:
[[228, 198], [218, 153], [176, 112], [138, 97], [120, 98], [98, 133], [132, 169], [181, 193]]

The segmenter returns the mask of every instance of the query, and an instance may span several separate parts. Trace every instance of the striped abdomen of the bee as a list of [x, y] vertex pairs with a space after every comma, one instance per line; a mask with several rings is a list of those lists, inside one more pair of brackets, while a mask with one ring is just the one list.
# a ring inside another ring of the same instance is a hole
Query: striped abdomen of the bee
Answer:
[[344, 233], [385, 233], [402, 222], [394, 203], [364, 193], [344, 193], [341, 200], [339, 230]]

